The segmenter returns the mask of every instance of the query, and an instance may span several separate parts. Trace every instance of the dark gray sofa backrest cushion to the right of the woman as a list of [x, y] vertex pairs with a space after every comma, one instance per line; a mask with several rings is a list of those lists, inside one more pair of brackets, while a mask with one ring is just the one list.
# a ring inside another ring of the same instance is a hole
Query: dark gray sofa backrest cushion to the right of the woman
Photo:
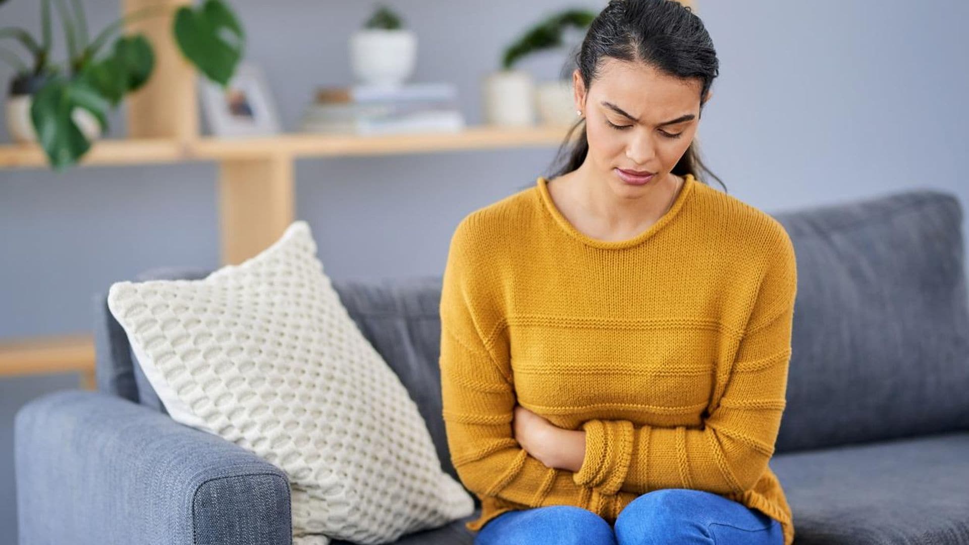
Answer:
[[958, 200], [919, 189], [773, 215], [797, 253], [775, 452], [969, 430]]

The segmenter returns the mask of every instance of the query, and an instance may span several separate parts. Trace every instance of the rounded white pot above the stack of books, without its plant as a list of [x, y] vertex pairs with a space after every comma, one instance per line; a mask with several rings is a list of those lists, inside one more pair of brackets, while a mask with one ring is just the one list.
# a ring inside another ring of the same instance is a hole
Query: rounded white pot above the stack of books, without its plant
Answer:
[[350, 36], [350, 65], [364, 83], [403, 83], [414, 73], [417, 53], [418, 37], [410, 30], [364, 29]]

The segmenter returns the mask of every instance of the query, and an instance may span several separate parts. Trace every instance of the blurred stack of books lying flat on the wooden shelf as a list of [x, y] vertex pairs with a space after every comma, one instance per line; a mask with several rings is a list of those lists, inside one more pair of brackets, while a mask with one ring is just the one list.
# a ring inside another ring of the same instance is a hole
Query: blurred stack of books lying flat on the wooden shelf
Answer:
[[301, 130], [388, 135], [459, 132], [464, 125], [453, 83], [361, 83], [319, 88], [315, 100], [303, 112]]

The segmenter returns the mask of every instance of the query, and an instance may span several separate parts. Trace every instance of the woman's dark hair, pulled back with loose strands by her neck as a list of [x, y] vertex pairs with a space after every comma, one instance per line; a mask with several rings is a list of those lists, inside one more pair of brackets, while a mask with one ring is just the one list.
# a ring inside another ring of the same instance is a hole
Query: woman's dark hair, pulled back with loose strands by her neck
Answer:
[[[603, 57], [645, 63], [684, 80], [699, 78], [703, 81], [701, 100], [719, 73], [717, 54], [703, 21], [689, 6], [676, 0], [610, 0], [609, 5], [589, 25], [574, 59], [574, 66], [578, 67], [586, 92], [599, 75]], [[569, 69], [571, 76], [573, 69]], [[702, 115], [703, 102], [700, 112]], [[565, 163], [554, 174], [546, 176], [548, 179], [575, 171], [585, 160], [589, 142], [584, 122], [583, 117], [569, 129], [553, 165], [561, 161], [565, 149], [574, 138], [573, 133], [578, 128], [582, 132], [565, 157]], [[699, 176], [700, 170], [716, 178], [724, 190], [727, 189], [723, 180], [703, 165], [697, 151], [697, 141], [694, 140], [673, 167], [672, 174], [691, 174], [703, 180], [705, 176]]]

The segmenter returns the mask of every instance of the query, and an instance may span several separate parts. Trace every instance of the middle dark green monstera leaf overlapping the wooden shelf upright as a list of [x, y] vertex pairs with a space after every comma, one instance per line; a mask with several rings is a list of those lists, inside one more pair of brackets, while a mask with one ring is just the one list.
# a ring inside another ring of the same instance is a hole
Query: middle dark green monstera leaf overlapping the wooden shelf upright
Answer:
[[81, 77], [117, 106], [125, 94], [144, 85], [154, 66], [155, 54], [144, 35], [123, 36], [114, 42], [111, 54], [88, 63]]

